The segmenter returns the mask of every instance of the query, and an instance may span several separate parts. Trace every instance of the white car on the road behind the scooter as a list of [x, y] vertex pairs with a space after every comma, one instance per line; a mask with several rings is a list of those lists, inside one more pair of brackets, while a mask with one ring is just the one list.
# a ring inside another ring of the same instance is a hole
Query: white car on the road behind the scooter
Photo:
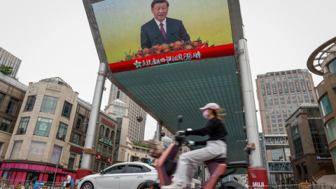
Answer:
[[78, 189], [144, 189], [146, 181], [158, 180], [158, 171], [142, 162], [123, 162], [79, 180]]

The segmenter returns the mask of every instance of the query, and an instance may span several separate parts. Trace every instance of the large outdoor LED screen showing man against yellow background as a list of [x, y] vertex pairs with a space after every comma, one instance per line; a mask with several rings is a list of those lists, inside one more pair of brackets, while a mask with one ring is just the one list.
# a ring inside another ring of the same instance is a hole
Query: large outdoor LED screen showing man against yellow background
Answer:
[[234, 55], [228, 1], [152, 3], [92, 3], [113, 73]]

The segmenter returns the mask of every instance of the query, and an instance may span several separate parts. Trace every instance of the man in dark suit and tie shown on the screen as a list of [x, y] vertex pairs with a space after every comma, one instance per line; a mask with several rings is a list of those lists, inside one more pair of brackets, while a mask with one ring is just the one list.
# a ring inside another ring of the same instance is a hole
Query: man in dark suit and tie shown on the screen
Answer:
[[167, 0], [153, 0], [151, 4], [154, 18], [141, 27], [141, 48], [151, 48], [162, 43], [190, 41], [181, 20], [167, 18], [169, 3]]

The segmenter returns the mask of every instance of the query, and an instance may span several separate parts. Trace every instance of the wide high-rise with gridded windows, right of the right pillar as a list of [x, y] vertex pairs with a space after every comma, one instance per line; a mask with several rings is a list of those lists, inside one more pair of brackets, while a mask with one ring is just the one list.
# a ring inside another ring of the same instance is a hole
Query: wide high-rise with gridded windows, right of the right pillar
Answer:
[[[261, 118], [262, 132], [265, 137], [274, 141], [287, 137], [285, 129], [286, 119], [298, 108], [300, 104], [316, 104], [314, 82], [311, 73], [307, 69], [294, 69], [288, 71], [274, 71], [257, 76], [257, 95]], [[266, 146], [267, 148], [267, 146]], [[273, 145], [272, 150], [267, 148], [268, 172], [280, 171], [281, 164], [287, 162], [290, 165], [290, 151], [279, 142], [279, 146]], [[272, 169], [270, 168], [272, 166]], [[290, 167], [291, 169], [291, 167]], [[284, 178], [293, 177], [283, 174], [269, 174], [270, 184], [288, 183]], [[288, 179], [288, 181], [292, 180]]]

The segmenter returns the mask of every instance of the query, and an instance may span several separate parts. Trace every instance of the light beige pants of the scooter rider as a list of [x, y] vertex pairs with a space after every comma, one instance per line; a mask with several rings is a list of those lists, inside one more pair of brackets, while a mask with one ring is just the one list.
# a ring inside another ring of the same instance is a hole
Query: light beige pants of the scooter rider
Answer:
[[190, 185], [193, 181], [195, 167], [204, 165], [204, 161], [211, 160], [219, 155], [226, 155], [227, 145], [224, 141], [207, 141], [204, 148], [182, 153], [177, 162], [173, 183]]

